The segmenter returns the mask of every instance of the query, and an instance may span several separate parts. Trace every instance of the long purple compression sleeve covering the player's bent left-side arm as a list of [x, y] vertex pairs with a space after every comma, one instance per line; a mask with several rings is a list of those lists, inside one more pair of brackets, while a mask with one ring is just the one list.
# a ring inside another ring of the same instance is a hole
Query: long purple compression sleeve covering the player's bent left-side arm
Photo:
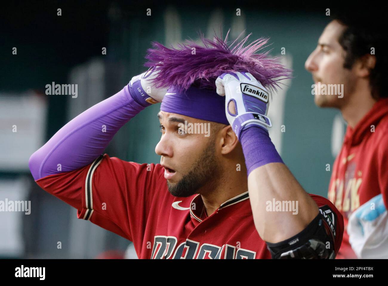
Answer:
[[79, 169], [101, 155], [114, 134], [145, 108], [133, 100], [130, 88], [126, 85], [75, 117], [33, 153], [28, 166], [34, 179]]

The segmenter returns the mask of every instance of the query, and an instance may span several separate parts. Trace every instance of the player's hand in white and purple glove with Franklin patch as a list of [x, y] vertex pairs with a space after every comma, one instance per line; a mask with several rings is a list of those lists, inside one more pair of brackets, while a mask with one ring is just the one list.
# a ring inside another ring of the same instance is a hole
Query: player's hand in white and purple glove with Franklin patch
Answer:
[[250, 73], [223, 73], [216, 80], [217, 93], [225, 96], [225, 112], [237, 137], [249, 125], [271, 127], [267, 117], [268, 91]]

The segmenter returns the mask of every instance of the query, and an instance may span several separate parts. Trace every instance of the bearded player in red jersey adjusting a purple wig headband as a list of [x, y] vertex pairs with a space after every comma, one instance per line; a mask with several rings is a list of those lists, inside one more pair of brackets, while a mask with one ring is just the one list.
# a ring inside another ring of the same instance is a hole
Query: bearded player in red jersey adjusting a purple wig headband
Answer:
[[[303, 190], [268, 136], [268, 89], [289, 71], [257, 53], [267, 39], [245, 45], [248, 37], [178, 49], [154, 43], [152, 68], [31, 156], [36, 183], [78, 218], [132, 241], [139, 258], [334, 258], [342, 216]], [[158, 102], [160, 164], [102, 155], [128, 120]]]

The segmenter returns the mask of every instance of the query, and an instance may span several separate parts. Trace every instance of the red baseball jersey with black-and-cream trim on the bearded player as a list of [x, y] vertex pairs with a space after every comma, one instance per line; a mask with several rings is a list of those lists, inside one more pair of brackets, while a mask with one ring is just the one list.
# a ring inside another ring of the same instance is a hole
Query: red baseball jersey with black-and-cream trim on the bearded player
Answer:
[[[255, 224], [248, 191], [229, 199], [210, 216], [201, 195], [174, 197], [160, 164], [126, 162], [107, 154], [75, 171], [36, 181], [78, 210], [78, 218], [133, 242], [139, 258], [271, 258]], [[343, 220], [327, 199], [321, 207], [340, 248]]]

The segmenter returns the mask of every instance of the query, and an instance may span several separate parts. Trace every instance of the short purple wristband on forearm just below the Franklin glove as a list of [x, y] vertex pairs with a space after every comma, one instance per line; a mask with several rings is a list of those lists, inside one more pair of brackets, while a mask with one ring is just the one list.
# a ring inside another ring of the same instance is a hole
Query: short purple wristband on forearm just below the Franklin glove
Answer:
[[248, 176], [254, 169], [265, 164], [283, 163], [268, 135], [268, 131], [264, 128], [251, 125], [241, 131], [240, 137]]

